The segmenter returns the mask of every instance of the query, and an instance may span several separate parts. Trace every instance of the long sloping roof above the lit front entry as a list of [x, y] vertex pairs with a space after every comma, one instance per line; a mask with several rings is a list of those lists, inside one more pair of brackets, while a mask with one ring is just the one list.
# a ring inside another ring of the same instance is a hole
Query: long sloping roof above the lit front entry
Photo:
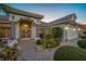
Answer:
[[25, 16], [29, 16], [29, 17], [35, 17], [35, 18], [44, 18], [44, 15], [39, 15], [39, 14], [35, 14], [35, 13], [30, 13], [30, 12], [26, 12], [20, 9], [15, 9], [12, 7], [9, 7], [7, 4], [0, 4], [3, 5], [3, 8], [9, 12], [9, 13], [14, 13], [14, 14], [20, 14], [20, 15], [25, 15]]

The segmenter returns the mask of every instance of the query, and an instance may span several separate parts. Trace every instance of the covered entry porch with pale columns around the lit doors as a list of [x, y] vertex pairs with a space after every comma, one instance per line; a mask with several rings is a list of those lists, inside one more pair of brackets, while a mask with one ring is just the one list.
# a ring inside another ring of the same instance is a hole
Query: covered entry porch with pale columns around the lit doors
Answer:
[[16, 39], [36, 39], [39, 38], [37, 20], [22, 18], [15, 26]]

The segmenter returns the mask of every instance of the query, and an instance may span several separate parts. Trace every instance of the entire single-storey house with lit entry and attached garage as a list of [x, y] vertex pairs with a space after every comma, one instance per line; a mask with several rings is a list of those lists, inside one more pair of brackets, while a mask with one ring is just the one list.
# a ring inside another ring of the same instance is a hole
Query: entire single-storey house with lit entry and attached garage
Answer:
[[50, 23], [41, 22], [42, 18], [44, 15], [0, 4], [0, 37], [12, 46], [17, 39], [36, 40], [40, 31], [49, 33], [50, 27], [61, 27], [63, 41], [78, 38], [78, 24], [74, 13]]

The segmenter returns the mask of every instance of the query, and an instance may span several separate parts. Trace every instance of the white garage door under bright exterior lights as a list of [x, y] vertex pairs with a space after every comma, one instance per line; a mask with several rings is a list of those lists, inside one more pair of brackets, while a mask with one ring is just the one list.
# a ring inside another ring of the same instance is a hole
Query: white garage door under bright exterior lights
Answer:
[[75, 39], [78, 38], [78, 33], [75, 28], [69, 28], [66, 30], [66, 39], [71, 40], [71, 39]]

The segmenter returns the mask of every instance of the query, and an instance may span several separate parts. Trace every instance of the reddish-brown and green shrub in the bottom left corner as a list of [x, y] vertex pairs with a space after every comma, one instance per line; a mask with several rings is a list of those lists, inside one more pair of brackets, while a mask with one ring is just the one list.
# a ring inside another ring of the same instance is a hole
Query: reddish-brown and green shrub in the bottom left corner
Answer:
[[19, 49], [16, 47], [7, 47], [0, 54], [3, 61], [16, 61], [20, 55]]

